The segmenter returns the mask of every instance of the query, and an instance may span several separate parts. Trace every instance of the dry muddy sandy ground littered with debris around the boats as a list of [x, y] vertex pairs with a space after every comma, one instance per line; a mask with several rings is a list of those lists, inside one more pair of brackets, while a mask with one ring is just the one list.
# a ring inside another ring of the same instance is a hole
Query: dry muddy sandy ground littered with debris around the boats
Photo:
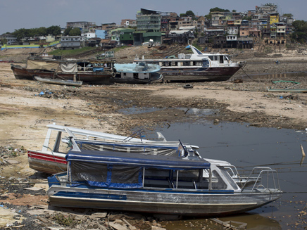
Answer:
[[[16, 218], [23, 229], [44, 229], [46, 226], [65, 226], [71, 218], [78, 219], [74, 227], [99, 229], [106, 224], [106, 217], [91, 217], [72, 211], [47, 211], [48, 198], [45, 190], [26, 190], [34, 184], [44, 185], [46, 175], [31, 170], [27, 165], [27, 149], [40, 149], [46, 134], [46, 124], [68, 125], [92, 129], [99, 132], [130, 135], [132, 129], [152, 129], [171, 125], [172, 122], [196, 122], [209, 120], [213, 124], [219, 121], [246, 122], [256, 127], [275, 127], [277, 129], [305, 129], [307, 124], [307, 96], [305, 94], [269, 93], [268, 88], [296, 87], [307, 89], [306, 77], [280, 75], [283, 72], [306, 72], [306, 49], [277, 50], [273, 53], [254, 50], [232, 50], [234, 60], [246, 60], [246, 66], [227, 82], [194, 82], [192, 89], [184, 89], [186, 82], [159, 84], [113, 84], [65, 87], [43, 84], [28, 80], [17, 80], [13, 76], [9, 63], [0, 63], [0, 146], [1, 147], [1, 197], [0, 202], [6, 210], [13, 213], [11, 219], [2, 226], [12, 223]], [[23, 62], [25, 51], [0, 53], [2, 59]], [[146, 47], [130, 47], [118, 52], [118, 60], [125, 62], [135, 54], [145, 53], [152, 56], [159, 51]], [[28, 53], [28, 52], [27, 52]], [[279, 64], [275, 63], [279, 60]], [[265, 77], [254, 74], [268, 73]], [[280, 83], [276, 86], [272, 80], [292, 80], [300, 84]], [[39, 96], [40, 92], [44, 95]], [[151, 113], [123, 114], [123, 108], [159, 108]], [[206, 117], [196, 117], [187, 113], [191, 108], [206, 108], [216, 111]], [[176, 136], [174, 134], [174, 140]], [[4, 162], [2, 162], [4, 161]], [[29, 184], [29, 182], [31, 184]], [[17, 185], [16, 185], [17, 184]], [[46, 184], [45, 184], [46, 186]], [[42, 186], [44, 187], [44, 186]], [[41, 188], [42, 189], [42, 188]], [[28, 212], [35, 210], [37, 212]], [[66, 210], [67, 211], [67, 210]], [[32, 214], [31, 214], [32, 213]], [[36, 213], [36, 216], [33, 214]], [[39, 214], [38, 214], [39, 213]], [[56, 214], [55, 214], [56, 213]], [[64, 214], [63, 214], [64, 213]], [[70, 213], [70, 212], [69, 212]], [[77, 213], [77, 214], [76, 214]], [[16, 215], [19, 217], [16, 217]], [[15, 215], [15, 217], [14, 217]], [[41, 218], [37, 218], [37, 215]], [[9, 215], [7, 215], [9, 216]], [[0, 217], [5, 219], [4, 217]], [[100, 218], [95, 226], [89, 227], [89, 219]], [[133, 219], [134, 226], [148, 229], [157, 225], [153, 217], [114, 217]], [[118, 220], [118, 222], [120, 222]], [[120, 222], [120, 223], [122, 223]], [[78, 224], [77, 224], [78, 223]], [[108, 222], [107, 222], [108, 223]], [[122, 224], [122, 225], [126, 225]], [[69, 225], [68, 225], [69, 226]], [[67, 227], [67, 226], [66, 226]]]

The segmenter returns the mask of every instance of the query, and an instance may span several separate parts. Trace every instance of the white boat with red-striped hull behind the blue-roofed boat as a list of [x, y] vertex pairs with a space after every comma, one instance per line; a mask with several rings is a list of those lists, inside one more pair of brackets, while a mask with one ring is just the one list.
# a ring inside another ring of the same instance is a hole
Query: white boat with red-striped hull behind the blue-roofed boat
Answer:
[[[161, 133], [158, 136], [163, 141], [138, 139], [134, 136], [120, 136], [77, 129], [56, 124], [47, 125], [48, 131], [41, 151], [28, 150], [27, 158], [30, 168], [40, 172], [54, 174], [67, 170], [65, 157], [73, 148], [99, 151], [138, 152], [153, 155], [179, 155], [180, 142], [166, 141]], [[64, 136], [65, 135], [65, 136]], [[185, 144], [188, 146], [188, 144]], [[189, 146], [189, 148], [198, 148]]]

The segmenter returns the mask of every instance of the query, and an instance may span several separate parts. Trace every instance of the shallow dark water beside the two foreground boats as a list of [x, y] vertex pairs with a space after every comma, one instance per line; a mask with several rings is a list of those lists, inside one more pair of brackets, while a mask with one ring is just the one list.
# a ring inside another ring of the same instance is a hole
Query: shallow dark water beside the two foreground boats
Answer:
[[[168, 141], [180, 139], [199, 146], [203, 158], [226, 160], [239, 172], [248, 173], [246, 170], [250, 172], [256, 166], [278, 171], [280, 187], [284, 191], [280, 200], [244, 215], [220, 218], [223, 221], [245, 222], [247, 229], [292, 229], [296, 223], [299, 223], [299, 228], [307, 226], [307, 160], [302, 161], [300, 147], [302, 145], [307, 152], [306, 132], [249, 127], [248, 124], [232, 122], [217, 125], [208, 122], [172, 123], [170, 127], [157, 127], [155, 132], [162, 132]], [[151, 133], [146, 138], [153, 136], [156, 134]], [[167, 229], [191, 229], [187, 222], [201, 222], [205, 226], [205, 220], [168, 222]], [[201, 228], [199, 224], [192, 229]]]

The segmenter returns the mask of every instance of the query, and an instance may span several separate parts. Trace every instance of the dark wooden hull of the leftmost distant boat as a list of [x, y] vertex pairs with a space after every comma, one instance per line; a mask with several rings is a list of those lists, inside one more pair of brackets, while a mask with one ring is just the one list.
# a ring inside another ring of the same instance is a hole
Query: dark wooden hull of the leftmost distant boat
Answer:
[[33, 80], [35, 76], [51, 79], [65, 79], [110, 84], [111, 71], [105, 72], [52, 72], [44, 70], [28, 70], [20, 65], [11, 64], [16, 79]]

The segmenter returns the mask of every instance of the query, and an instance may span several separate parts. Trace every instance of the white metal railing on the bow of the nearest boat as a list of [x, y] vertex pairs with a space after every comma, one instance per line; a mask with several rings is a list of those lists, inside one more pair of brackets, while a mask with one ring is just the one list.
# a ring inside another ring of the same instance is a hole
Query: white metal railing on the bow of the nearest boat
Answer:
[[[258, 172], [260, 171], [260, 172]], [[258, 172], [258, 177], [252, 177], [253, 174]], [[263, 177], [266, 175], [266, 178]], [[247, 177], [244, 186], [242, 186], [242, 191], [247, 189], [247, 184], [251, 180], [251, 178], [256, 178], [256, 181], [253, 183], [251, 188], [251, 192], [256, 191], [258, 188], [269, 189], [269, 186], [273, 185], [272, 189], [280, 189], [280, 182], [278, 178], [277, 170], [272, 170], [270, 167], [254, 167], [249, 177]], [[275, 181], [276, 178], [276, 181]], [[263, 184], [266, 182], [266, 185]], [[250, 188], [249, 188], [250, 189]]]

